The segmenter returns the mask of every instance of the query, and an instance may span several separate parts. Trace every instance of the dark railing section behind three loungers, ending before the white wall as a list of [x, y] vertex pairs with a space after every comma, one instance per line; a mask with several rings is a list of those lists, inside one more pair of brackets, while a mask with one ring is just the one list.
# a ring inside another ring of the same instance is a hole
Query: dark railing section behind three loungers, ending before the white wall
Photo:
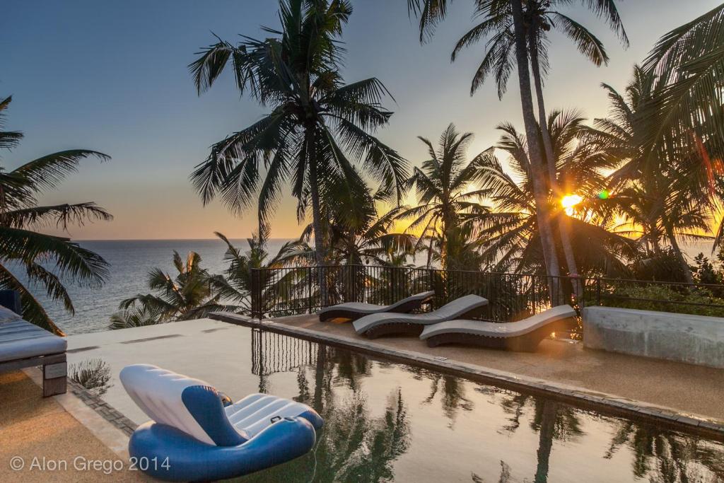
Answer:
[[[481, 319], [494, 322], [574, 303], [576, 283], [586, 283], [571, 277], [365, 265], [253, 269], [251, 280], [251, 316], [257, 319], [311, 314], [344, 302], [386, 305], [433, 290], [430, 309], [474, 293], [490, 301]], [[323, 281], [327, 290], [322, 290]]]

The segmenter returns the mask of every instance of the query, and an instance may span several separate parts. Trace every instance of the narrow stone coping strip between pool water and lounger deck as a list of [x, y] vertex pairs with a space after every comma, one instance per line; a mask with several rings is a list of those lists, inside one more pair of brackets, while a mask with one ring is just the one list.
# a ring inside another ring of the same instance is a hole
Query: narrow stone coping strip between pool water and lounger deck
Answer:
[[396, 362], [420, 366], [424, 369], [465, 377], [476, 382], [495, 385], [508, 390], [553, 398], [563, 403], [589, 408], [600, 413], [610, 414], [611, 416], [638, 419], [648, 424], [656, 424], [676, 431], [696, 434], [724, 442], [724, 421], [699, 419], [679, 413], [670, 408], [652, 406], [635, 400], [616, 398], [613, 395], [592, 392], [581, 387], [561, 385], [541, 379], [523, 377], [476, 364], [466, 364], [450, 359], [442, 360], [442, 358], [436, 358], [426, 353], [390, 348], [390, 346], [380, 345], [369, 340], [353, 339], [352, 337], [344, 337], [342, 335], [331, 335], [317, 330], [293, 327], [292, 325], [271, 321], [259, 322], [258, 320], [235, 314], [214, 313], [210, 314], [209, 317], [231, 324], [255, 327], [282, 335], [290, 335], [311, 342], [347, 348], [371, 356], [387, 358]]

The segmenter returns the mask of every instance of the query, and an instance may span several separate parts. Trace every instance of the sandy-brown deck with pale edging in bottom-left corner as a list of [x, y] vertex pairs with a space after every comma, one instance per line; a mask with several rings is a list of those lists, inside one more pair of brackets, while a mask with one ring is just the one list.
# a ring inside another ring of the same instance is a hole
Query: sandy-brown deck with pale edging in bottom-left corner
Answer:
[[0, 374], [0, 481], [149, 481], [129, 471], [125, 434], [72, 392], [43, 398], [41, 383], [34, 368]]

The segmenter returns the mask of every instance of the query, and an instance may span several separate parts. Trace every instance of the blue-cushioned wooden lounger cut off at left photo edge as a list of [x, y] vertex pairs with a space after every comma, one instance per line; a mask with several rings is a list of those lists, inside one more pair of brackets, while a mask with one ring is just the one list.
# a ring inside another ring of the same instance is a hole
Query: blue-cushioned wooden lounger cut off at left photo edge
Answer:
[[0, 307], [0, 371], [43, 366], [43, 396], [66, 391], [67, 341]]

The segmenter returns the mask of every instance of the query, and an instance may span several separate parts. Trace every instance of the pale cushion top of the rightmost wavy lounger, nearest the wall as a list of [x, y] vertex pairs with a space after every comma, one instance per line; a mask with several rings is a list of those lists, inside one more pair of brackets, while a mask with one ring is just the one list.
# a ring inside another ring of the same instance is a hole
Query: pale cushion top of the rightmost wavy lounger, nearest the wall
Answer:
[[420, 338], [425, 340], [436, 335], [450, 333], [481, 335], [484, 337], [519, 337], [551, 322], [575, 316], [576, 311], [571, 306], [562, 305], [518, 322], [496, 323], [478, 320], [448, 320], [447, 322], [425, 327]]

